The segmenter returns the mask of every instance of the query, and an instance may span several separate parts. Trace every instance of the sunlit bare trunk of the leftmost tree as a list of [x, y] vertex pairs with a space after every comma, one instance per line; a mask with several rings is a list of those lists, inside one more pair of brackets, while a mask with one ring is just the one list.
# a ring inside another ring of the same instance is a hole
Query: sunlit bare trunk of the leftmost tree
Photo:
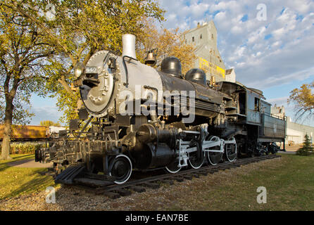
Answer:
[[4, 139], [2, 140], [1, 157], [0, 160], [11, 160], [10, 157], [10, 143], [12, 135], [12, 115], [13, 115], [13, 101], [6, 100], [6, 115], [4, 117]]

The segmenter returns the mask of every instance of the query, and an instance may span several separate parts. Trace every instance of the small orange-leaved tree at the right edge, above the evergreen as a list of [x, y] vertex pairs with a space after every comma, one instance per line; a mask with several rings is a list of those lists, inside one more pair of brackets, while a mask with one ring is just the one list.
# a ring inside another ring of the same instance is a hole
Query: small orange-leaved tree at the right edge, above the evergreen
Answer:
[[302, 117], [308, 114], [314, 115], [314, 94], [313, 94], [314, 82], [311, 84], [303, 84], [299, 89], [293, 89], [290, 91], [288, 103], [294, 102], [296, 115]]

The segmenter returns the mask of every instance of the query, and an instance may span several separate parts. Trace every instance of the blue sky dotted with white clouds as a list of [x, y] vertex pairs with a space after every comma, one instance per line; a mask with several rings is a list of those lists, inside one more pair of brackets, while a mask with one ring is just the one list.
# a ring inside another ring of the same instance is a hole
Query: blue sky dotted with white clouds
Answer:
[[[294, 117], [294, 106], [287, 105], [289, 92], [314, 80], [314, 2], [277, 1], [183, 1], [159, 0], [165, 13], [165, 28], [181, 31], [197, 23], [213, 20], [218, 31], [218, 49], [227, 68], [234, 68], [237, 80], [260, 89], [270, 103], [284, 105]], [[267, 18], [258, 20], [257, 9], [265, 4]], [[56, 101], [32, 97], [40, 120], [58, 120]], [[306, 120], [304, 124], [314, 125]]]

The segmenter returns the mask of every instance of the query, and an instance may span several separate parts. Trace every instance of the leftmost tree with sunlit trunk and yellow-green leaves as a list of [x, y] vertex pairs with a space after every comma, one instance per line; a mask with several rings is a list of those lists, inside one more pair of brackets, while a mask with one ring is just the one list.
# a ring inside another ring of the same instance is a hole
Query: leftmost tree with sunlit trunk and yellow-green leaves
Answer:
[[24, 105], [30, 104], [32, 93], [44, 93], [45, 59], [54, 53], [42, 29], [8, 4], [11, 1], [0, 4], [0, 98], [4, 100], [0, 104], [4, 122], [1, 160], [11, 159], [12, 123], [29, 122], [32, 114]]

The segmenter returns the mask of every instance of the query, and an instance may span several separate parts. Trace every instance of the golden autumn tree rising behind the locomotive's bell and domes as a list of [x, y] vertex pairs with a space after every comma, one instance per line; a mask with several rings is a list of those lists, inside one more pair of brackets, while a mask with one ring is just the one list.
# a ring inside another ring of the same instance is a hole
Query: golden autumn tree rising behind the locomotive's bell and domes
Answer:
[[157, 69], [160, 68], [161, 61], [168, 56], [175, 56], [180, 59], [182, 74], [193, 68], [196, 60], [195, 48], [180, 39], [179, 28], [174, 30], [161, 28], [158, 30], [151, 19], [144, 19], [143, 24], [144, 31], [138, 35], [137, 41], [137, 55], [142, 63], [144, 63], [147, 51], [157, 49], [157, 63], [155, 65]]

